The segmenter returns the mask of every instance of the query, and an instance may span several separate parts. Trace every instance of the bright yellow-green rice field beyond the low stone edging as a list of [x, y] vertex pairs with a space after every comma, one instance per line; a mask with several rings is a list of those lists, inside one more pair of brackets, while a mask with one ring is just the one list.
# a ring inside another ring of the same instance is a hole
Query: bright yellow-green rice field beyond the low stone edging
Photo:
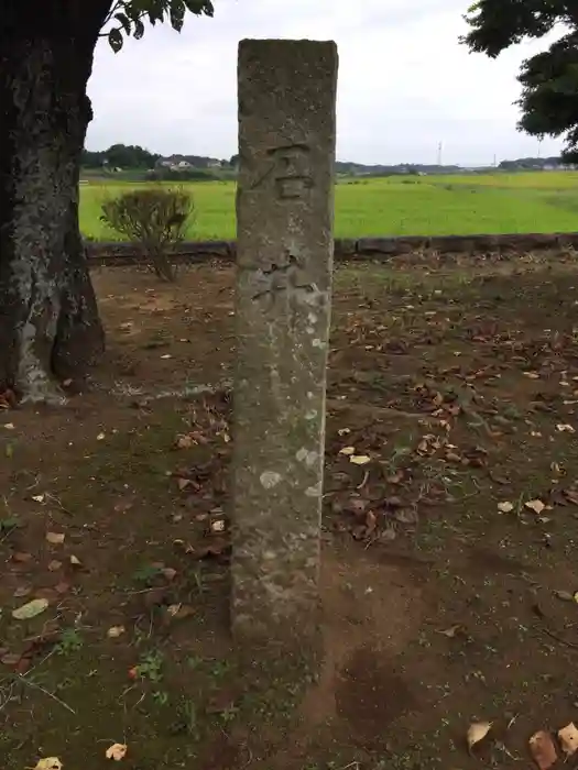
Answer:
[[[85, 235], [117, 240], [99, 219], [100, 206], [126, 187], [81, 185]], [[235, 183], [186, 187], [196, 205], [189, 239], [233, 239]], [[578, 231], [578, 172], [356, 178], [336, 187], [337, 238], [556, 231]]]

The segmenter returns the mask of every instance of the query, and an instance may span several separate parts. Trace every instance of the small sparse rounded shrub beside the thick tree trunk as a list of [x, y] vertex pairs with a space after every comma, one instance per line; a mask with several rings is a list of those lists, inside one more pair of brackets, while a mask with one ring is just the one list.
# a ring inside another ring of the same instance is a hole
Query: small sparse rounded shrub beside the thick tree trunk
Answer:
[[141, 250], [151, 270], [163, 280], [175, 280], [175, 246], [185, 239], [194, 215], [190, 193], [179, 187], [127, 190], [102, 204], [100, 220]]

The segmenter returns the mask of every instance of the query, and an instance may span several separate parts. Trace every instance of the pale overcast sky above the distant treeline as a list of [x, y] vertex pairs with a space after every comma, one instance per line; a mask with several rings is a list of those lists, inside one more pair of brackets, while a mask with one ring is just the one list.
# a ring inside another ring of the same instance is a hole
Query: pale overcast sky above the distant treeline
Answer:
[[[243, 37], [335, 40], [339, 46], [341, 161], [461, 165], [536, 155], [516, 132], [523, 44], [497, 61], [458, 37], [470, 0], [214, 0], [215, 18], [189, 15], [181, 34], [148, 28], [113, 54], [98, 45], [87, 146], [141, 144], [171, 153], [237, 152], [237, 44]], [[559, 152], [545, 140], [542, 154]]]

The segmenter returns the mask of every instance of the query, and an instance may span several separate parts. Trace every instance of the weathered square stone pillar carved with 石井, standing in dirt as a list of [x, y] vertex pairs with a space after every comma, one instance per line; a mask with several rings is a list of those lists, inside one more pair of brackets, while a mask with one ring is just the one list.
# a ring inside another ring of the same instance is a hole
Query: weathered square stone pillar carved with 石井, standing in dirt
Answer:
[[318, 629], [337, 47], [241, 41], [232, 629]]

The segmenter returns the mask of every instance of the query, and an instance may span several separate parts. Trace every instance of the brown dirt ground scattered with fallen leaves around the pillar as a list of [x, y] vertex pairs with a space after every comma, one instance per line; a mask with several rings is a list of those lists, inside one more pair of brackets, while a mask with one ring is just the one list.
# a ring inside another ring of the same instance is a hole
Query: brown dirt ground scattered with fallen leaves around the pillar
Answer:
[[578, 722], [577, 271], [337, 271], [307, 682], [228, 636], [232, 271], [96, 270], [90, 392], [0, 411], [3, 770], [530, 768]]

